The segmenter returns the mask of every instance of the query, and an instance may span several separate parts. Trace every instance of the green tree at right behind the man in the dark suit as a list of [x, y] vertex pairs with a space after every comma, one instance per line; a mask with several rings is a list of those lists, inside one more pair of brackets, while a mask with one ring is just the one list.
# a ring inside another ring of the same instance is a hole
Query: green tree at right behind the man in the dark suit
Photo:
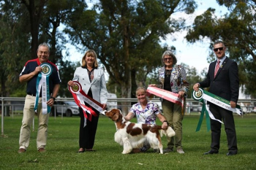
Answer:
[[[252, 0], [217, 1], [225, 5], [229, 13], [217, 18], [215, 9], [209, 8], [195, 18], [186, 36], [191, 43], [203, 38], [215, 42], [222, 39], [227, 46], [230, 58], [238, 62], [239, 79], [245, 93], [256, 96], [254, 82], [256, 76], [256, 2]], [[209, 46], [212, 49], [212, 43]], [[213, 60], [213, 53], [211, 58]]]

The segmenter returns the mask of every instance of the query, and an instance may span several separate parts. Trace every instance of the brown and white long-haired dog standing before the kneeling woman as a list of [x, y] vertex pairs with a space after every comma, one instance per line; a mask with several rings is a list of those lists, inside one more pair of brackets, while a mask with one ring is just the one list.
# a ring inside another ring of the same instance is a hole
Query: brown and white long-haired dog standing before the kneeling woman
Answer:
[[110, 117], [116, 124], [115, 141], [124, 147], [123, 154], [132, 152], [133, 148], [143, 147], [143, 144], [146, 142], [150, 144], [151, 148], [159, 149], [162, 154], [162, 134], [168, 137], [175, 135], [173, 128], [170, 126], [164, 130], [160, 125], [147, 125], [126, 121], [119, 109], [106, 111], [105, 115]]

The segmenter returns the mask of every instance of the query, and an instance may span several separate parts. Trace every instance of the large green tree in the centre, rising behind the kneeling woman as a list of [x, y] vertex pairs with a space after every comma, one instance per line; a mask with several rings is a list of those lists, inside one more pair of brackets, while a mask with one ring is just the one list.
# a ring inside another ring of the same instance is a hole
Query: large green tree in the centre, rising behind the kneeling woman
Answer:
[[97, 52], [109, 82], [121, 88], [121, 97], [129, 98], [132, 88], [146, 85], [147, 75], [160, 66], [167, 48], [160, 38], [184, 26], [184, 20], [170, 20], [170, 15], [191, 13], [195, 7], [193, 0], [102, 0], [83, 15], [71, 14], [66, 24], [73, 30], [66, 32], [73, 45], [81, 43]]

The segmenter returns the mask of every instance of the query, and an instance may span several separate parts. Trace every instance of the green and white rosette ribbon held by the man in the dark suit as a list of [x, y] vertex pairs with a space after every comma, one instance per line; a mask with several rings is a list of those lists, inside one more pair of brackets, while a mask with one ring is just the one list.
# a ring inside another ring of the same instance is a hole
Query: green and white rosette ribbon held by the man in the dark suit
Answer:
[[[236, 108], [232, 108], [232, 107], [230, 107], [230, 101], [227, 101], [225, 98], [221, 98], [219, 96], [214, 95], [213, 93], [203, 90], [202, 88], [199, 88], [198, 91], [194, 90], [192, 92], [192, 98], [194, 98], [196, 101], [200, 101], [203, 103], [203, 107], [202, 107], [199, 122], [197, 124], [196, 131], [200, 131], [200, 127], [203, 122], [203, 115], [205, 112], [206, 112], [206, 125], [207, 125], [208, 131], [210, 131], [210, 129], [211, 129], [209, 118], [211, 118], [212, 120], [217, 120], [214, 117], [214, 115], [212, 115], [212, 113], [208, 107], [207, 101], [211, 102], [212, 104], [216, 104], [217, 106], [222, 107], [224, 109], [230, 110], [232, 112], [236, 112], [238, 115], [243, 115], [243, 111], [238, 104], [236, 104]], [[217, 120], [217, 121], [219, 123], [222, 123], [221, 120]], [[224, 123], [222, 123], [222, 124], [224, 124]]]

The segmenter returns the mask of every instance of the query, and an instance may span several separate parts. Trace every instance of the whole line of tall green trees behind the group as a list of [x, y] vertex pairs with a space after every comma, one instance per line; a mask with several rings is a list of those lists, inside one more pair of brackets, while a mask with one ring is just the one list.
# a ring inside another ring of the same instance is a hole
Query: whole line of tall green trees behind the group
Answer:
[[[255, 1], [217, 1], [229, 13], [217, 18], [215, 9], [197, 16], [192, 26], [184, 18], [173, 19], [176, 12], [192, 14], [194, 0], [97, 0], [89, 7], [83, 0], [3, 0], [0, 2], [0, 81], [1, 96], [25, 96], [26, 84], [18, 77], [29, 59], [37, 58], [42, 42], [50, 45], [50, 61], [61, 75], [59, 96], [72, 97], [67, 90], [75, 68], [64, 58], [70, 43], [80, 53], [93, 49], [100, 66], [108, 72], [108, 90], [121, 98], [135, 97], [139, 85], [157, 82], [157, 68], [165, 50], [176, 51], [175, 42], [162, 45], [161, 39], [176, 31], [187, 30], [190, 43], [207, 37], [208, 61], [213, 61], [212, 43], [222, 39], [230, 58], [239, 66], [239, 77], [245, 92], [255, 96]], [[67, 56], [70, 56], [68, 50]], [[81, 56], [82, 58], [82, 56]], [[207, 70], [185, 66], [189, 82], [202, 80]], [[192, 89], [192, 88], [191, 88]], [[189, 94], [190, 96], [190, 94]], [[125, 104], [122, 104], [125, 105]]]

